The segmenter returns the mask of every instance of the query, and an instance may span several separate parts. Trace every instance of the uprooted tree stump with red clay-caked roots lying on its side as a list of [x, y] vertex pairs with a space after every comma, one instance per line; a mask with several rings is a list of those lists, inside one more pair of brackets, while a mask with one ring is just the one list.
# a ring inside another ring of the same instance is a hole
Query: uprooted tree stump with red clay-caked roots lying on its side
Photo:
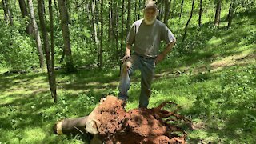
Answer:
[[[169, 105], [174, 111], [163, 110]], [[180, 107], [173, 102], [163, 102], [152, 109], [134, 109], [126, 112], [122, 102], [114, 96], [102, 98], [100, 104], [86, 117], [65, 119], [54, 126], [55, 134], [90, 133], [97, 135], [97, 142], [122, 143], [186, 143], [186, 132], [172, 121], [192, 122], [177, 114]], [[180, 134], [177, 134], [180, 133]]]

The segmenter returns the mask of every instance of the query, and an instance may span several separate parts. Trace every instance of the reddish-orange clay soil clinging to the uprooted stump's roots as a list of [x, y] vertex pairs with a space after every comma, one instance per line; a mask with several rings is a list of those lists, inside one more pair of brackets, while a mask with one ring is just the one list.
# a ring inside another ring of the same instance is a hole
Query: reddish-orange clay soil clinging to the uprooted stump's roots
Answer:
[[[153, 109], [134, 109], [126, 112], [122, 102], [114, 96], [107, 96], [103, 101], [97, 107], [96, 119], [100, 123], [97, 126], [98, 134], [105, 143], [186, 143], [186, 133], [169, 122], [174, 118], [188, 123], [190, 121], [176, 114], [178, 109], [173, 112], [162, 110], [163, 106], [174, 103], [164, 102]], [[174, 132], [180, 132], [181, 135], [178, 136]]]

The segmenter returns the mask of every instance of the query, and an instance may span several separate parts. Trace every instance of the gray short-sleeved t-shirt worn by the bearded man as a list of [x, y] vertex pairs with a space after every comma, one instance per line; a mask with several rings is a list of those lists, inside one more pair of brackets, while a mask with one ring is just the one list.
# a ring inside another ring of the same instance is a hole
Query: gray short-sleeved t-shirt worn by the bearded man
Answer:
[[161, 21], [156, 20], [152, 25], [140, 19], [132, 25], [126, 42], [132, 46], [134, 44], [134, 52], [136, 54], [154, 58], [158, 56], [160, 42], [163, 40], [166, 44], [170, 44], [175, 39], [174, 34]]

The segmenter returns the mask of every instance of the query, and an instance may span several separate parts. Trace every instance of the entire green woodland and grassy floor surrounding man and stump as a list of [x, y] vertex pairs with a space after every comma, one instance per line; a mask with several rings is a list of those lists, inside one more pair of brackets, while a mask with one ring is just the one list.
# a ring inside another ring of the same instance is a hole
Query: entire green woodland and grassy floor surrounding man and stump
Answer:
[[[87, 142], [54, 136], [51, 126], [118, 94], [126, 34], [143, 17], [144, 3], [2, 0], [0, 143]], [[187, 130], [189, 143], [254, 143], [255, 1], [157, 4], [177, 43], [157, 66], [150, 107], [165, 100], [182, 105], [198, 126]], [[127, 110], [138, 105], [139, 78], [134, 74]]]

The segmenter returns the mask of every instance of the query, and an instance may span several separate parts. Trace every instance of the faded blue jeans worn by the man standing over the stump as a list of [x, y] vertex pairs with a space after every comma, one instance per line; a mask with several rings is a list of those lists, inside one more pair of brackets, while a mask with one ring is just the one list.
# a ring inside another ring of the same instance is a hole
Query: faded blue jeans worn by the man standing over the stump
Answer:
[[149, 98], [151, 94], [151, 82], [154, 78], [154, 58], [142, 58], [137, 54], [131, 55], [131, 58], [127, 59], [122, 64], [121, 78], [119, 83], [118, 98], [125, 101], [128, 100], [127, 91], [130, 89], [130, 76], [134, 70], [141, 71], [141, 93], [139, 97], [139, 107], [147, 107], [149, 104]]

